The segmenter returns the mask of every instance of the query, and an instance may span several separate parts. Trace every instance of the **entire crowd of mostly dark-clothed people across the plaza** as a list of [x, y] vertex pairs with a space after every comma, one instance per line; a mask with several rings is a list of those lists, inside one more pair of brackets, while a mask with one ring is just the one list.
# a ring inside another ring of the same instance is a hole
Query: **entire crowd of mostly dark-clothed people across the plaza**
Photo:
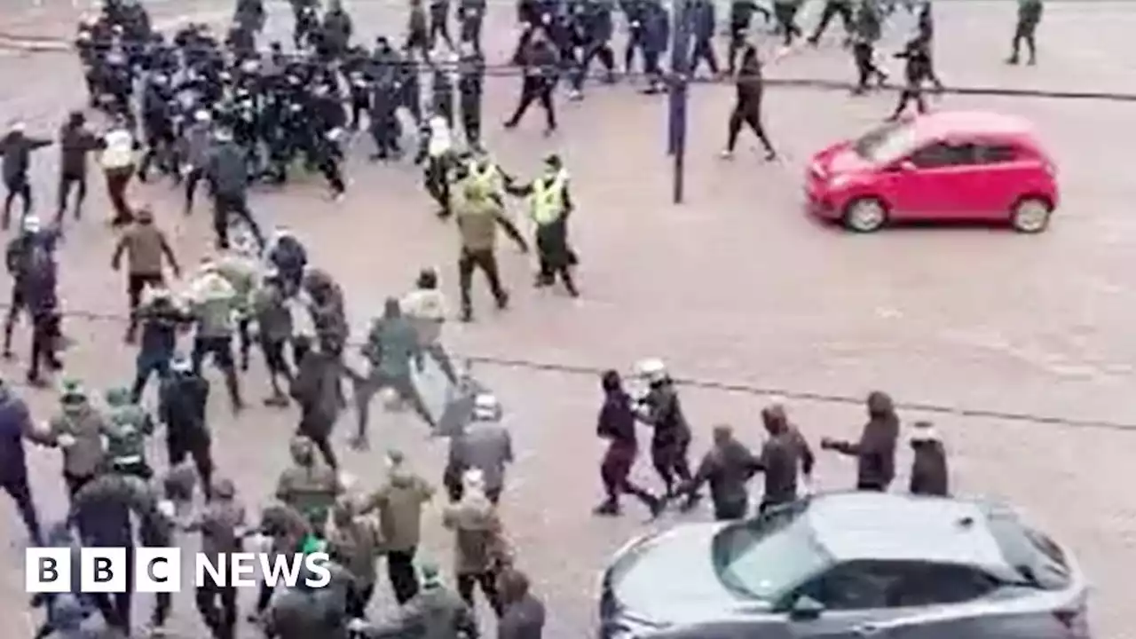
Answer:
[[[802, 34], [795, 22], [801, 3], [777, 0], [771, 10], [745, 0], [730, 5], [726, 67], [736, 75], [737, 105], [729, 122], [727, 156], [742, 125], [759, 135], [768, 158], [777, 155], [761, 122], [762, 63], [747, 34], [754, 15], [761, 14], [786, 45], [793, 44]], [[335, 567], [328, 588], [308, 589], [301, 579], [300, 586], [279, 592], [261, 589], [249, 620], [268, 637], [476, 637], [481, 624], [471, 611], [477, 588], [498, 616], [502, 639], [540, 637], [543, 604], [529, 591], [519, 567], [524, 557], [509, 543], [498, 514], [507, 497], [511, 439], [501, 423], [498, 399], [452, 362], [442, 343], [446, 302], [438, 274], [423, 269], [412, 290], [387, 299], [364, 346], [348, 352], [344, 291], [329, 273], [309, 264], [299, 236], [286, 229], [260, 226], [249, 205], [249, 189], [257, 182], [284, 185], [300, 165], [323, 175], [339, 199], [346, 189], [349, 132], [369, 132], [373, 160], [396, 160], [408, 138], [403, 123], [412, 123], [418, 135], [411, 155], [424, 167], [426, 192], [438, 216], [456, 222], [461, 238], [459, 316], [468, 322], [474, 318], [475, 269], [485, 274], [496, 306], [509, 305], [496, 264], [499, 230], [520, 250], [535, 248], [535, 285], [559, 280], [569, 294], [579, 294], [574, 276], [578, 257], [568, 241], [567, 222], [574, 209], [568, 172], [560, 157], [550, 155], [540, 176], [524, 182], [495, 165], [483, 146], [481, 97], [490, 68], [481, 44], [483, 0], [460, 0], [458, 42], [450, 35], [448, 0], [428, 6], [411, 0], [404, 45], [396, 48], [379, 38], [369, 51], [353, 40], [352, 19], [337, 0], [329, 0], [326, 11], [316, 0], [292, 0], [292, 5], [291, 50], [273, 42], [267, 52], [258, 48], [266, 16], [260, 0], [239, 0], [233, 26], [223, 39], [202, 25], [186, 25], [166, 38], [152, 28], [144, 8], [131, 0], [108, 0], [99, 15], [84, 20], [76, 45], [89, 107], [108, 124], [95, 132], [87, 122], [90, 111], [76, 110], [61, 127], [53, 219], [35, 213], [28, 171], [33, 153], [55, 141], [30, 134], [20, 123], [0, 141], [8, 190], [5, 230], [11, 226], [15, 200], [23, 205], [6, 255], [14, 282], [5, 358], [16, 358], [14, 331], [26, 316], [27, 381], [47, 387], [50, 376], [64, 370], [67, 331], [56, 254], [68, 209], [75, 219], [82, 216], [89, 157], [98, 158], [106, 177], [110, 223], [118, 232], [111, 265], [119, 269], [125, 262], [126, 268], [125, 341], [136, 348], [132, 384], [108, 390], [100, 401], [80, 381], [62, 380], [58, 414], [47, 422], [32, 418], [11, 384], [0, 384], [3, 487], [36, 545], [134, 548], [200, 536], [202, 551], [209, 554], [249, 546], [276, 553], [327, 550]], [[845, 43], [859, 69], [858, 93], [887, 80], [875, 49], [882, 22], [894, 5], [828, 0], [805, 39], [816, 44], [833, 18], [843, 19]], [[899, 53], [907, 72], [893, 117], [909, 102], [924, 110], [924, 84], [938, 84], [930, 56], [932, 5], [904, 5], [918, 16], [918, 33]], [[1027, 61], [1035, 61], [1041, 6], [1039, 0], [1021, 2], [1008, 61], [1019, 61], [1021, 43]], [[668, 78], [661, 60], [671, 16], [651, 0], [630, 0], [619, 9], [627, 25], [623, 72], [633, 74], [638, 56], [645, 91], [662, 91]], [[691, 0], [686, 10], [694, 61], [705, 61], [717, 75], [715, 5]], [[507, 127], [517, 126], [528, 106], [538, 102], [546, 113], [546, 128], [556, 130], [557, 85], [565, 80], [569, 97], [583, 98], [593, 61], [603, 67], [601, 80], [616, 80], [615, 11], [605, 0], [520, 2], [518, 19], [524, 28], [510, 61], [520, 69], [521, 94]], [[202, 184], [212, 200], [216, 254], [184, 277], [176, 239], [162, 230], [153, 210], [130, 194], [135, 179], [152, 181], [154, 174], [182, 189], [186, 215], [194, 209]], [[504, 214], [509, 197], [526, 200], [532, 241]], [[183, 350], [185, 334], [192, 338]], [[264, 404], [282, 410], [295, 407], [299, 415], [290, 441], [292, 464], [281, 474], [273, 500], [252, 517], [237, 487], [214, 464], [206, 410], [211, 384], [202, 368], [207, 358], [219, 368], [239, 414], [245, 407], [243, 377], [254, 349], [267, 372]], [[427, 359], [452, 390], [442, 416], [427, 407], [416, 382]], [[151, 410], [143, 398], [153, 377], [158, 401]], [[596, 514], [620, 513], [624, 495], [638, 498], [652, 516], [670, 504], [691, 508], [709, 484], [715, 515], [741, 518], [750, 514], [747, 483], [758, 473], [765, 479], [761, 512], [810, 492], [812, 450], [779, 403], [762, 410], [768, 439], [759, 453], [735, 439], [728, 426], [717, 426], [711, 448], [692, 465], [692, 432], [666, 366], [660, 360], [643, 362], [635, 381], [645, 387], [625, 388], [615, 371], [601, 380], [604, 400], [598, 434], [609, 447], [601, 463], [604, 498]], [[370, 405], [378, 396], [404, 404], [427, 429], [449, 438], [449, 458], [438, 483], [448, 501], [443, 524], [454, 536], [453, 590], [436, 565], [416, 563], [423, 514], [435, 482], [418, 474], [398, 450], [385, 453], [389, 470], [375, 491], [356, 490], [340, 472], [333, 426], [348, 412], [350, 398], [357, 418], [351, 445], [367, 450]], [[867, 408], [869, 421], [859, 441], [819, 443], [858, 459], [858, 489], [885, 490], [895, 475], [899, 420], [884, 393], [872, 393]], [[657, 492], [629, 480], [640, 423], [652, 433], [650, 457], [661, 481]], [[911, 491], [946, 495], [946, 458], [933, 426], [918, 423], [913, 430]], [[160, 465], [147, 456], [147, 440], [156, 437], [166, 445], [167, 458]], [[62, 522], [40, 523], [28, 483], [27, 443], [61, 451], [62, 481], [70, 497]], [[136, 534], [135, 520], [141, 524]], [[379, 557], [385, 558], [399, 609], [386, 615], [390, 619], [368, 622]], [[128, 634], [132, 599], [130, 592], [90, 596], [77, 589], [37, 598], [35, 604], [45, 608], [39, 637], [73, 637], [92, 615]], [[195, 600], [216, 639], [236, 636], [239, 612], [232, 587], [202, 588]], [[152, 629], [166, 625], [170, 605], [168, 596], [156, 596]]]

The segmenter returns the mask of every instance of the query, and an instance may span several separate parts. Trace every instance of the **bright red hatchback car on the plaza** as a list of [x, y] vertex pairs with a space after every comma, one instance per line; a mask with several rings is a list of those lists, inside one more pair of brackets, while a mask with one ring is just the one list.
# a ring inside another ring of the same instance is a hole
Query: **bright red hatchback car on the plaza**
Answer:
[[888, 222], [1009, 222], [1038, 233], [1058, 206], [1056, 169], [1016, 116], [945, 111], [832, 146], [809, 166], [810, 210], [870, 233]]

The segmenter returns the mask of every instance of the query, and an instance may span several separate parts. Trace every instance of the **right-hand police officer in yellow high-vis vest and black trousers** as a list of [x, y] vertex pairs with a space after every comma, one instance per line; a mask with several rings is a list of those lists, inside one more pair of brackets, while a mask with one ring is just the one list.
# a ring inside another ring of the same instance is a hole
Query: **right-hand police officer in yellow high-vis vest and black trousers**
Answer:
[[540, 258], [536, 285], [549, 287], [559, 275], [568, 294], [577, 297], [579, 292], [571, 273], [577, 259], [568, 246], [568, 216], [573, 211], [573, 201], [568, 191], [568, 172], [560, 157], [549, 156], [544, 160], [544, 175], [531, 183], [518, 186], [507, 181], [504, 186], [509, 193], [528, 199], [529, 216], [536, 225]]

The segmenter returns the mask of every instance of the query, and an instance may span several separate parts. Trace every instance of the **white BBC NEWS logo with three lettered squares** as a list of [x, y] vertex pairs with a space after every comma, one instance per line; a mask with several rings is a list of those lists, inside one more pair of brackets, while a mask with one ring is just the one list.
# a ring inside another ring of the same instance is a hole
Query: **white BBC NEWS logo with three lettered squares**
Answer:
[[[73, 565], [70, 548], [28, 548], [24, 553], [27, 592], [70, 592], [78, 571], [82, 592], [126, 592], [133, 573], [135, 592], [177, 592], [182, 589], [181, 548], [134, 548], [133, 566], [126, 548], [82, 548]], [[303, 575], [309, 588], [331, 583], [327, 553], [228, 553], [216, 557], [193, 554], [193, 584], [251, 588], [257, 573], [268, 586], [294, 587]]]

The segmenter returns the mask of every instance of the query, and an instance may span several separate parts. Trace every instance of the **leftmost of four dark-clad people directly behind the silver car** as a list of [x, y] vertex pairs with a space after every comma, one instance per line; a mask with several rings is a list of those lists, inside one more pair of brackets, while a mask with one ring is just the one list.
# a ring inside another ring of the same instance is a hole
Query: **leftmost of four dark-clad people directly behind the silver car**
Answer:
[[750, 505], [746, 484], [761, 470], [761, 462], [734, 438], [734, 429], [719, 424], [713, 428], [713, 448], [699, 464], [694, 478], [679, 488], [686, 495], [683, 509], [698, 504], [698, 491], [703, 483], [710, 483], [710, 500], [713, 503], [715, 518], [718, 521], [741, 520]]

